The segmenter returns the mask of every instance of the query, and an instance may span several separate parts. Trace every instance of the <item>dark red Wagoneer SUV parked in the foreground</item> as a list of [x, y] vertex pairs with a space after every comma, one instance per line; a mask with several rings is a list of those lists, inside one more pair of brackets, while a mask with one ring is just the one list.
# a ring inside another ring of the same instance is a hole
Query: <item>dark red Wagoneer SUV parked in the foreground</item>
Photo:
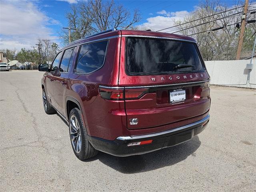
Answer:
[[210, 76], [187, 36], [109, 30], [72, 42], [50, 69], [38, 69], [44, 110], [69, 124], [80, 160], [174, 146], [209, 122]]

